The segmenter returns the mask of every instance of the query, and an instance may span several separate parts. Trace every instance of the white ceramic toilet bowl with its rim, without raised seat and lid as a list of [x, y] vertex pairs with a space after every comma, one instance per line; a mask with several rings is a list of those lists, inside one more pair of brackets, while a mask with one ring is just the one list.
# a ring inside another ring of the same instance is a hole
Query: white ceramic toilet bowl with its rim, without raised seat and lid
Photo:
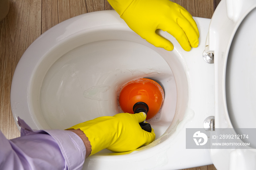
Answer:
[[[214, 161], [220, 162], [220, 168], [227, 167], [216, 157], [219, 151], [186, 149], [186, 128], [202, 128], [209, 116], [215, 116], [215, 128], [224, 127], [219, 126], [221, 108], [216, 106], [225, 103], [216, 92], [216, 82], [223, 79], [216, 72], [222, 53], [217, 40], [210, 43], [216, 24], [194, 19], [200, 44], [189, 52], [161, 30], [158, 33], [172, 41], [174, 50], [154, 47], [115, 11], [86, 13], [57, 24], [30, 45], [16, 67], [11, 86], [16, 124], [19, 116], [32, 129], [67, 129], [99, 116], [113, 116], [122, 112], [117, 99], [121, 87], [133, 79], [150, 78], [165, 92], [159, 113], [147, 120], [156, 140], [127, 153], [102, 150], [85, 160], [84, 169], [170, 170]], [[214, 53], [214, 64], [202, 58], [210, 53]]]

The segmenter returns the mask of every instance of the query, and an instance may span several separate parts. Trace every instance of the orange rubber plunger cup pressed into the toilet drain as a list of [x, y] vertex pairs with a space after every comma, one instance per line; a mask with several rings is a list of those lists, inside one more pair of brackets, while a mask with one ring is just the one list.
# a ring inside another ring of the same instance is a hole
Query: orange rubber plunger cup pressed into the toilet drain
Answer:
[[161, 108], [164, 99], [162, 87], [151, 79], [140, 78], [126, 83], [119, 95], [119, 104], [124, 112], [147, 114], [153, 118]]

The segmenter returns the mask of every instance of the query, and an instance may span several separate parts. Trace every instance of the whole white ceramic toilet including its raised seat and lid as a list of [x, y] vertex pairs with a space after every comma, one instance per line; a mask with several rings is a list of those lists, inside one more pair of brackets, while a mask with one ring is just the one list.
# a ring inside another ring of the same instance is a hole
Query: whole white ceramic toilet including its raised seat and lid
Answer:
[[154, 47], [115, 11], [57, 24], [31, 44], [16, 67], [15, 121], [19, 116], [32, 129], [66, 129], [112, 116], [121, 111], [117, 96], [123, 84], [151, 78], [165, 91], [161, 110], [148, 120], [156, 140], [122, 154], [102, 150], [86, 159], [84, 169], [172, 170], [212, 163], [220, 170], [256, 169], [253, 147], [186, 149], [186, 128], [211, 131], [210, 116], [215, 129], [256, 127], [255, 8], [255, 0], [222, 0], [211, 20], [195, 17], [200, 44], [189, 52], [163, 31], [158, 33], [174, 50]]

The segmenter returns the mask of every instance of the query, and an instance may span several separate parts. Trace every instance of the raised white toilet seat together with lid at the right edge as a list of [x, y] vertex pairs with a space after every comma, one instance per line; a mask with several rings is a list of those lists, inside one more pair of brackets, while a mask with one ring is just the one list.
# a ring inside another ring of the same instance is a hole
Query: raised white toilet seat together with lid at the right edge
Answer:
[[[222, 0], [206, 42], [206, 51], [214, 53], [215, 128], [237, 128], [234, 135], [256, 128], [255, 17], [255, 1]], [[256, 169], [255, 143], [250, 144], [248, 149], [212, 149], [212, 162], [220, 170]]]

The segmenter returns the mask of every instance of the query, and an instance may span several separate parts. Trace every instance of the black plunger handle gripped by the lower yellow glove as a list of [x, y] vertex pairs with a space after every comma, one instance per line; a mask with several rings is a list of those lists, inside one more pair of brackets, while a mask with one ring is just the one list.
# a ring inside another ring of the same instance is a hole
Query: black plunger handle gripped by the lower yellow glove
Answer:
[[[134, 112], [134, 114], [135, 114], [135, 113], [139, 113], [139, 112], [144, 112], [144, 113], [147, 114], [147, 112], [148, 112], [148, 106], [147, 106], [147, 104], [144, 103], [144, 102], [137, 102], [137, 103], [135, 103], [134, 106], [133, 106], [133, 112]], [[145, 131], [147, 131], [147, 132], [151, 132], [151, 131], [152, 131], [151, 125], [150, 125], [149, 123], [146, 123], [145, 120], [144, 120], [143, 122], [139, 123], [139, 125], [140, 125], [140, 127], [141, 127], [143, 130], [145, 130]]]

